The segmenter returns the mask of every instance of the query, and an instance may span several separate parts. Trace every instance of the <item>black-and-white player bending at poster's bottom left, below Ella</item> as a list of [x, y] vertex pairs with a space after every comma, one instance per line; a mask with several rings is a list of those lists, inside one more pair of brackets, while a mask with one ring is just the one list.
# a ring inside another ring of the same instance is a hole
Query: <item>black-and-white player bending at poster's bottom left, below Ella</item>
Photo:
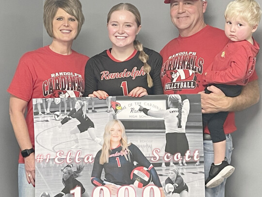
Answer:
[[81, 197], [89, 197], [87, 192], [85, 192], [85, 188], [83, 187], [82, 183], [79, 182], [76, 178], [81, 176], [81, 172], [84, 166], [80, 165], [77, 166], [77, 169], [73, 171], [73, 165], [68, 164], [66, 167], [61, 169], [62, 172], [62, 182], [65, 185], [65, 188], [54, 197], [72, 197], [73, 195], [70, 194], [70, 191], [76, 187], [81, 187]]

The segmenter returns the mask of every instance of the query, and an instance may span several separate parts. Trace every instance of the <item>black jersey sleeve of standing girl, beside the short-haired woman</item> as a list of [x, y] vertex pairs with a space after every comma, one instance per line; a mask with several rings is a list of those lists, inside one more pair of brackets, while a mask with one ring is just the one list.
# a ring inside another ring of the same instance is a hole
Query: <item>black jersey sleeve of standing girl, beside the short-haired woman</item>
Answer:
[[92, 94], [93, 91], [98, 90], [98, 81], [95, 78], [94, 69], [92, 69], [93, 66], [94, 66], [93, 58], [90, 58], [87, 61], [84, 70], [85, 88], [84, 88], [83, 96], [88, 96], [89, 94]]

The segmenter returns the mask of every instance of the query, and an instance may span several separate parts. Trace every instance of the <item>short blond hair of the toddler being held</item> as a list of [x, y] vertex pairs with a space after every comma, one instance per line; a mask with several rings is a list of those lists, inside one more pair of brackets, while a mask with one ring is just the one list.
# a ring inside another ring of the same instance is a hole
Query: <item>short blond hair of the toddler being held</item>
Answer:
[[260, 5], [255, 0], [233, 0], [225, 11], [225, 18], [241, 17], [251, 27], [259, 24], [261, 15]]

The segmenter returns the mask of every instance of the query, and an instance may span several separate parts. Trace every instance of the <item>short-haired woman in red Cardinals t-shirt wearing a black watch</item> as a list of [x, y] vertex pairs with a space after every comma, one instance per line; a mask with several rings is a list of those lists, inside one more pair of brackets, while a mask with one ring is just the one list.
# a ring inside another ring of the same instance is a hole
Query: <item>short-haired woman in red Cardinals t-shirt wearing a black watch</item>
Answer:
[[60, 93], [81, 96], [84, 66], [89, 59], [71, 49], [84, 22], [79, 0], [46, 0], [43, 19], [52, 43], [21, 57], [7, 90], [11, 94], [10, 119], [23, 154], [18, 161], [19, 197], [34, 197], [32, 99], [59, 97]]

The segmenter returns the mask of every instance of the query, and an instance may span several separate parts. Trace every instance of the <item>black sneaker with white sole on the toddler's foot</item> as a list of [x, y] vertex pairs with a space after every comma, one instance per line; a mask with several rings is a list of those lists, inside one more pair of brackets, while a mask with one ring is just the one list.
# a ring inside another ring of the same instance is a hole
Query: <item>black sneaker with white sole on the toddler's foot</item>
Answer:
[[223, 161], [222, 164], [215, 166], [211, 165], [209, 176], [205, 182], [207, 188], [212, 188], [220, 185], [225, 178], [228, 178], [235, 168], [229, 165], [227, 161]]

